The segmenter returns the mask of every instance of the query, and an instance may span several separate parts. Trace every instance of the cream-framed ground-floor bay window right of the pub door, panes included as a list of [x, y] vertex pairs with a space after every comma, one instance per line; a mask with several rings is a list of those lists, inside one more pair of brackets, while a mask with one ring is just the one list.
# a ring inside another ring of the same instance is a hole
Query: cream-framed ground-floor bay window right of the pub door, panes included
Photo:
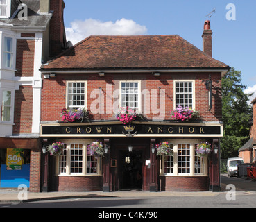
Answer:
[[206, 176], [207, 157], [196, 155], [196, 139], [173, 139], [168, 141], [173, 155], [162, 156], [160, 175], [162, 176]]

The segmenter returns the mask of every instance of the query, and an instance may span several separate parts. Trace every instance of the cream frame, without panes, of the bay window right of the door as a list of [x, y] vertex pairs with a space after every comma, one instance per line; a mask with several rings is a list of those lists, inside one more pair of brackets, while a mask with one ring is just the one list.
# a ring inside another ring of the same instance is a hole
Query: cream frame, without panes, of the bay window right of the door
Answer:
[[[207, 157], [203, 157], [203, 173], [195, 173], [196, 160], [196, 144], [200, 144], [199, 139], [167, 139], [169, 144], [173, 144], [173, 173], [164, 173], [164, 164], [166, 157], [162, 156], [160, 159], [160, 176], [208, 176], [208, 162]], [[178, 144], [189, 144], [190, 146], [190, 172], [178, 173]]]

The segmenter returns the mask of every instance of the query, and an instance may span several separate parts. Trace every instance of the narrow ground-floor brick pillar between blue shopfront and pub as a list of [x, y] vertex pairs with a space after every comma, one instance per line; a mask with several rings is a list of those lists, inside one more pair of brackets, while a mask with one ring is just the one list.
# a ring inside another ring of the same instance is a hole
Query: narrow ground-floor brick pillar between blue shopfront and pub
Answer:
[[41, 164], [41, 150], [31, 150], [31, 172], [29, 191], [32, 193], [40, 192], [40, 164]]

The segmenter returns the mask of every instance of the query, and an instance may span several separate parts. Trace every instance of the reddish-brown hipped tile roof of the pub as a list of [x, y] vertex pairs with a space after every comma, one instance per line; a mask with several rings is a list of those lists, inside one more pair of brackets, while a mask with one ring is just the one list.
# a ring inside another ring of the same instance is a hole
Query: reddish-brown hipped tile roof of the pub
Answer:
[[179, 35], [90, 36], [46, 69], [228, 69]]

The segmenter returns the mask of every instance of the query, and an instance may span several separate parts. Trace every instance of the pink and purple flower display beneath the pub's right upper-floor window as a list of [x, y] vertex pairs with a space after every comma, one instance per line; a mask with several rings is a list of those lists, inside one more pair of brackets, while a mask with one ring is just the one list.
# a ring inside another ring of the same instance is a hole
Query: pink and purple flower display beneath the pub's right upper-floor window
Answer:
[[191, 119], [198, 119], [199, 113], [196, 110], [179, 105], [175, 110], [171, 110], [171, 118], [173, 120], [189, 121]]

